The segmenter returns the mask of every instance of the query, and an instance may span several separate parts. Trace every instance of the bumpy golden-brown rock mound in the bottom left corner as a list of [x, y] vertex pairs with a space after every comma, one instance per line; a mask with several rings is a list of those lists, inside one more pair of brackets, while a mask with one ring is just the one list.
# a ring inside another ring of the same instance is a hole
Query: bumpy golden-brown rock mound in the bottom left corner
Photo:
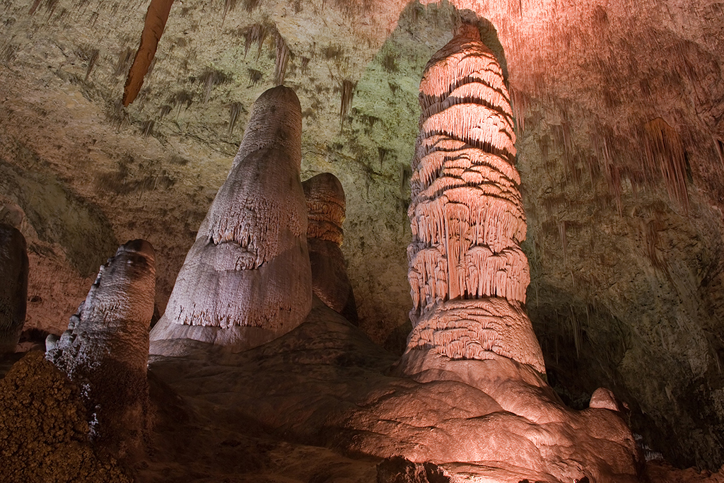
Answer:
[[0, 380], [0, 474], [7, 482], [130, 483], [88, 439], [77, 387], [31, 352]]

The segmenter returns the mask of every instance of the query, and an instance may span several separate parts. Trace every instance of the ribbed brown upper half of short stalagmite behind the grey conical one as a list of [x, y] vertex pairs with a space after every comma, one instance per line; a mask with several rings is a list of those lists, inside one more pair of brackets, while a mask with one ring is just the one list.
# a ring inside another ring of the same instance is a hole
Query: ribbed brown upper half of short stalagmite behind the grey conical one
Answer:
[[332, 173], [321, 173], [302, 183], [307, 201], [307, 238], [342, 245], [345, 221], [345, 191]]

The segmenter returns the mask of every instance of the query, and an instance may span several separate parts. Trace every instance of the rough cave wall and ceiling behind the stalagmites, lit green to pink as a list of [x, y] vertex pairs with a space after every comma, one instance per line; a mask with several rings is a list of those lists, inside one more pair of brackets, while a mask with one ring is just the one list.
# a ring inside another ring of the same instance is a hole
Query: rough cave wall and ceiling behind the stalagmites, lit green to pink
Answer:
[[251, 104], [283, 79], [303, 180], [345, 188], [360, 327], [402, 350], [418, 84], [473, 11], [513, 100], [552, 384], [573, 406], [607, 385], [672, 461], [724, 463], [724, 3], [452, 3], [177, 0], [124, 106], [147, 0], [0, 1], [0, 218], [30, 247], [26, 327], [62, 332], [133, 238], [156, 249], [162, 314]]

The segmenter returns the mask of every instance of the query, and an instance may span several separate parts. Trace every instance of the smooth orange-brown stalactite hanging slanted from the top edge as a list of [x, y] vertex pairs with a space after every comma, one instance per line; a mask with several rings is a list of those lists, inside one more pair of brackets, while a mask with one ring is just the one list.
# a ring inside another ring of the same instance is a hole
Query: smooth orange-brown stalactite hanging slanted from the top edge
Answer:
[[122, 102], [124, 106], [131, 104], [143, 85], [143, 77], [151, 66], [153, 56], [156, 55], [156, 47], [159, 45], [161, 35], [166, 28], [166, 21], [171, 12], [174, 0], [151, 0], [146, 12], [146, 23], [143, 32], [140, 34], [140, 45], [136, 51], [133, 64], [128, 71], [126, 85], [123, 91]]

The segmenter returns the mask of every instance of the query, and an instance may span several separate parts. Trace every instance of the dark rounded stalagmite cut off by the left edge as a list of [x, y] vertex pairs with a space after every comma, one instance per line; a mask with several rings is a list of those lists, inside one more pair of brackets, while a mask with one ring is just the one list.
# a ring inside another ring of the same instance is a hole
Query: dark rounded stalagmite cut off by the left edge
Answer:
[[0, 224], [0, 280], [0, 353], [14, 352], [28, 303], [28, 251], [9, 224]]

